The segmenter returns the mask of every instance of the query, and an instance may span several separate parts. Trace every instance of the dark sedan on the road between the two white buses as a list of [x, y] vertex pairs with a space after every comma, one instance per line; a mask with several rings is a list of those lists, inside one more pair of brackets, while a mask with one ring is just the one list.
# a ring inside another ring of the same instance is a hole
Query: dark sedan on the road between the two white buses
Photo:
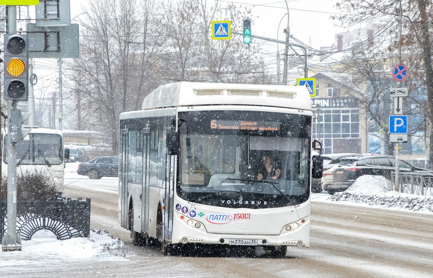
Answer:
[[119, 176], [119, 157], [96, 157], [78, 164], [78, 175], [88, 176], [89, 179]]

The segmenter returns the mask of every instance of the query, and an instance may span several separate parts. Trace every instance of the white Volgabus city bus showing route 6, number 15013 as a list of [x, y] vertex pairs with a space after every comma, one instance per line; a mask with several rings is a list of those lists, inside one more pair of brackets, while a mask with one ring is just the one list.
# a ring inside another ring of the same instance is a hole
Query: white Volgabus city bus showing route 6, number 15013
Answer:
[[[309, 247], [311, 177], [322, 171], [312, 117], [304, 86], [158, 87], [120, 114], [120, 225], [164, 254], [178, 243]], [[259, 178], [264, 155], [278, 177]]]

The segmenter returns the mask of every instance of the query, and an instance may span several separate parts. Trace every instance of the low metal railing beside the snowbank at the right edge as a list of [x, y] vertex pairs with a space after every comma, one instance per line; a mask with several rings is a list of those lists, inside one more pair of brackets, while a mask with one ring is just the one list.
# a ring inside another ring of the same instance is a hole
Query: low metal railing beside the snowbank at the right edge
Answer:
[[400, 191], [415, 195], [433, 194], [432, 172], [400, 173]]

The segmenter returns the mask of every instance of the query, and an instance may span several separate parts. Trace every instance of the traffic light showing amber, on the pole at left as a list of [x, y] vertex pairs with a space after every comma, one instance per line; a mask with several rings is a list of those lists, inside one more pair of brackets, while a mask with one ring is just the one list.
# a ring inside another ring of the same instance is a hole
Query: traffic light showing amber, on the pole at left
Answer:
[[4, 99], [29, 98], [29, 44], [27, 35], [4, 35]]

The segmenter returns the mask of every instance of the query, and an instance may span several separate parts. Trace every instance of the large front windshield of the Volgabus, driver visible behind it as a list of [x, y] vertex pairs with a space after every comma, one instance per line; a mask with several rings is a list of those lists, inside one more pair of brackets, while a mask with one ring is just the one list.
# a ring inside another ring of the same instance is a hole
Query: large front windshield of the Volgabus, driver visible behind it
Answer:
[[307, 201], [310, 123], [276, 112], [180, 112], [178, 195], [229, 208]]

